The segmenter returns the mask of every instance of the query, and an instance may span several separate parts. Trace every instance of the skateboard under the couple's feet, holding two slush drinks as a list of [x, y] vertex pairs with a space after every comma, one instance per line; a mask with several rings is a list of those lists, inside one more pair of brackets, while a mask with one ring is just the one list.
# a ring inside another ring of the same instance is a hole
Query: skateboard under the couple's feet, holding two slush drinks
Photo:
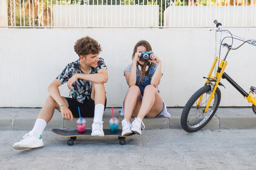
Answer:
[[[115, 134], [110, 133], [110, 129], [103, 129], [103, 131], [104, 131], [103, 137], [118, 137], [120, 145], [126, 144], [126, 140], [125, 140], [126, 137], [137, 135], [136, 133], [132, 132], [130, 135], [122, 136], [121, 129], [118, 129], [118, 132]], [[76, 140], [76, 137], [92, 137], [91, 132], [92, 132], [91, 130], [85, 130], [85, 133], [80, 134], [77, 132], [77, 130], [52, 129], [52, 133], [54, 133], [57, 136], [70, 137], [70, 139], [67, 140], [67, 144], [70, 146], [74, 145], [74, 141]]]

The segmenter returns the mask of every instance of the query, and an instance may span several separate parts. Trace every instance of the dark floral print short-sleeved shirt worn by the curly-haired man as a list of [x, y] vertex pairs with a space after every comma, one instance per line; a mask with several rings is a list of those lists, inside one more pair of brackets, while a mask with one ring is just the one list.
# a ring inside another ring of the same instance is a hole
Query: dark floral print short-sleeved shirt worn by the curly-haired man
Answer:
[[[79, 65], [79, 60], [67, 64], [62, 73], [56, 77], [56, 79], [58, 79], [61, 84], [67, 82], [73, 75], [77, 73], [83, 73]], [[99, 69], [101, 68], [107, 69], [103, 58], [99, 58], [98, 66], [96, 68], [91, 67], [88, 74], [98, 73]], [[92, 82], [84, 79], [77, 79], [76, 82], [72, 84], [69, 97], [76, 99], [77, 102], [84, 103], [86, 98], [90, 98], [91, 93]]]

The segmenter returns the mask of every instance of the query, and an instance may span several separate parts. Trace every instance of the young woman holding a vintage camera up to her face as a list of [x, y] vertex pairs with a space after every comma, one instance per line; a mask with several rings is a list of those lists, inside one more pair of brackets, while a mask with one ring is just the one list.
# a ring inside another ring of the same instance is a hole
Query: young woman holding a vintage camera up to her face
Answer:
[[[141, 52], [144, 51], [152, 52], [149, 60], [145, 61], [141, 56]], [[133, 50], [132, 64], [124, 69], [129, 89], [121, 111], [121, 115], [124, 115], [122, 136], [132, 132], [141, 135], [141, 128], [145, 128], [142, 122], [145, 116], [148, 118], [156, 118], [160, 115], [170, 117], [157, 87], [162, 77], [161, 68], [162, 61], [152, 51], [150, 44], [145, 40], [139, 41]], [[132, 124], [131, 117], [135, 117]]]

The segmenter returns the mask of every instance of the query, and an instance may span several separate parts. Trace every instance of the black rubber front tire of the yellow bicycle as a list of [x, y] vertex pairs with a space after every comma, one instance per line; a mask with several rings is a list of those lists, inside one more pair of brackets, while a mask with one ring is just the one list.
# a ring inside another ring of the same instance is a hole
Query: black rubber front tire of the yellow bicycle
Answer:
[[[186, 105], [184, 106], [183, 108], [183, 111], [182, 111], [182, 115], [181, 115], [181, 118], [180, 118], [180, 123], [181, 123], [181, 126], [182, 128], [186, 131], [186, 132], [196, 132], [200, 129], [202, 129], [210, 120], [211, 118], [213, 117], [213, 115], [216, 113], [217, 109], [218, 109], [218, 106], [220, 104], [220, 99], [221, 99], [221, 93], [220, 93], [220, 89], [217, 87], [215, 93], [217, 95], [216, 99], [217, 99], [217, 104], [215, 106], [215, 108], [213, 108], [213, 112], [211, 113], [211, 115], [208, 117], [208, 119], [200, 126], [198, 126], [197, 128], [190, 128], [187, 124], [187, 118], [188, 118], [188, 115], [189, 115], [189, 111], [191, 110], [193, 104], [195, 103], [195, 101], [201, 96], [203, 95], [204, 93], [207, 93], [211, 91], [211, 85], [206, 85], [206, 86], [203, 86], [202, 88], [200, 88], [198, 91], [196, 91], [191, 97], [190, 99], [188, 100], [188, 102], [186, 103]], [[215, 98], [214, 98], [215, 99]]]

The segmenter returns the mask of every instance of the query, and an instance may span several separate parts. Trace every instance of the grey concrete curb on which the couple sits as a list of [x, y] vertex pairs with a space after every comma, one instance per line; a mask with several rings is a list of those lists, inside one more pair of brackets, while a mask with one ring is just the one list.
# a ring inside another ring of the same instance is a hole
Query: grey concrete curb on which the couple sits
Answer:
[[[0, 130], [31, 130], [36, 121], [40, 108], [0, 108]], [[115, 117], [119, 119], [119, 128], [123, 116], [119, 115], [121, 108], [114, 108]], [[143, 120], [146, 129], [182, 129], [180, 115], [182, 108], [168, 108], [170, 118], [158, 117]], [[106, 108], [103, 115], [103, 128], [109, 129], [108, 120], [112, 117], [111, 108]], [[76, 129], [74, 121], [63, 120], [56, 110], [52, 120], [45, 130], [52, 128]], [[134, 118], [132, 118], [132, 121]], [[93, 118], [86, 118], [86, 129], [91, 129]], [[251, 108], [218, 108], [216, 114], [204, 129], [254, 129], [256, 128], [256, 115]]]

